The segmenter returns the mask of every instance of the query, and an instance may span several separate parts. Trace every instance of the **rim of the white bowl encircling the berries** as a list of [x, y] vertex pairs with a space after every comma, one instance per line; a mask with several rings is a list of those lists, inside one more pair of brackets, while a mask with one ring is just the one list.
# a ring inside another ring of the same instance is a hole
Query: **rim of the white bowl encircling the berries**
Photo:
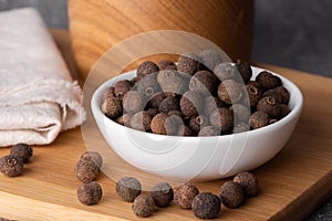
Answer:
[[[290, 92], [291, 96], [297, 96], [297, 99], [294, 102], [294, 106], [291, 108], [290, 113], [284, 116], [283, 118], [281, 118], [280, 120], [267, 125], [264, 127], [258, 128], [258, 129], [249, 129], [248, 131], [243, 131], [243, 133], [238, 133], [238, 134], [227, 134], [227, 135], [219, 135], [219, 136], [203, 136], [203, 137], [198, 137], [198, 136], [176, 136], [176, 135], [159, 135], [159, 134], [154, 134], [154, 133], [148, 133], [149, 136], [156, 136], [157, 137], [175, 137], [175, 138], [181, 138], [181, 139], [189, 139], [189, 140], [195, 140], [195, 139], [208, 139], [208, 138], [234, 138], [237, 135], [243, 135], [247, 134], [247, 136], [251, 136], [251, 135], [258, 135], [261, 134], [263, 130], [273, 130], [277, 127], [280, 127], [282, 125], [286, 125], [288, 123], [290, 123], [293, 118], [295, 118], [298, 115], [301, 114], [302, 108], [303, 108], [303, 95], [301, 93], [301, 90], [289, 78], [274, 73], [272, 71], [266, 70], [266, 69], [261, 69], [261, 67], [257, 67], [253, 65], [250, 65], [252, 69], [252, 72], [257, 72], [260, 73], [262, 71], [268, 71], [277, 76], [279, 76], [281, 78], [282, 85], [288, 90], [288, 91], [292, 91]], [[136, 70], [132, 70], [125, 73], [122, 73], [120, 75], [116, 75], [107, 81], [105, 81], [102, 85], [100, 85], [93, 93], [92, 98], [91, 98], [91, 109], [93, 113], [93, 117], [95, 118], [95, 120], [100, 120], [100, 122], [104, 122], [104, 123], [110, 123], [112, 126], [115, 126], [116, 128], [125, 128], [128, 129], [131, 133], [142, 133], [142, 135], [147, 134], [147, 131], [142, 131], [142, 130], [137, 130], [137, 129], [133, 129], [131, 127], [121, 125], [112, 119], [110, 119], [108, 117], [106, 117], [104, 115], [104, 113], [102, 112], [101, 108], [101, 96], [103, 91], [108, 87], [110, 85], [114, 85], [115, 82], [120, 81], [120, 80], [124, 80], [124, 78], [128, 78], [128, 76], [132, 76], [133, 74], [136, 74]], [[290, 90], [291, 88], [291, 90]]]

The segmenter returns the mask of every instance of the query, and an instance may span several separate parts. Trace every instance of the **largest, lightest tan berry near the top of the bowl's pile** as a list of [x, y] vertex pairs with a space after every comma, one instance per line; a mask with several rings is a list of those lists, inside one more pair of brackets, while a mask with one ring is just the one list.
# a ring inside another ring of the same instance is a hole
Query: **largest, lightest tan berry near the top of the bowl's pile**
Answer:
[[188, 87], [186, 78], [174, 70], [160, 71], [157, 75], [157, 82], [165, 93], [183, 94]]

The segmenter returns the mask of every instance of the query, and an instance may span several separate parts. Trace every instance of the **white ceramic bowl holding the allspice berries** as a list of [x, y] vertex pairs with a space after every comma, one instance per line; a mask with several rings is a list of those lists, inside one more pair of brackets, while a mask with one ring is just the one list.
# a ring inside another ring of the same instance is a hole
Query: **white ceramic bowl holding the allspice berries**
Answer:
[[[255, 77], [263, 70], [252, 66], [252, 71]], [[93, 116], [110, 147], [125, 161], [144, 171], [174, 179], [214, 180], [261, 166], [284, 147], [303, 106], [300, 90], [276, 74], [290, 92], [291, 112], [274, 124], [247, 133], [215, 137], [144, 133], [108, 119], [101, 110], [103, 91], [114, 82], [134, 75], [135, 71], [132, 71], [102, 84], [91, 101]]]

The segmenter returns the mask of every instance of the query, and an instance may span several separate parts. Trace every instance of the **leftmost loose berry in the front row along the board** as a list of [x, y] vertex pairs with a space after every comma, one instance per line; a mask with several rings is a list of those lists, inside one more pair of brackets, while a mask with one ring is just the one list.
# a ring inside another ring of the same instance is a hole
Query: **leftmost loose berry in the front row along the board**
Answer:
[[91, 206], [96, 204], [101, 201], [103, 196], [103, 190], [100, 183], [96, 181], [90, 181], [86, 183], [83, 183], [77, 189], [77, 199], [81, 203]]

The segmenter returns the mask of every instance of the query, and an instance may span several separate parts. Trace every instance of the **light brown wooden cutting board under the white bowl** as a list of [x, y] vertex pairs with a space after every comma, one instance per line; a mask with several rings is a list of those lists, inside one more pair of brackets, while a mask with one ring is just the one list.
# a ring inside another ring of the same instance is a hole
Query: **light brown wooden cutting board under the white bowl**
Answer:
[[[53, 31], [70, 65], [69, 38]], [[304, 95], [299, 125], [284, 149], [253, 170], [260, 193], [239, 209], [222, 208], [218, 220], [301, 220], [332, 196], [332, 80], [289, 69], [260, 65], [293, 81]], [[97, 136], [97, 135], [96, 135]], [[100, 135], [98, 135], [100, 136]], [[85, 151], [81, 129], [62, 133], [50, 146], [34, 147], [32, 161], [17, 178], [0, 176], [0, 217], [15, 220], [139, 220], [131, 203], [120, 200], [114, 181], [102, 175], [103, 199], [96, 206], [81, 204], [81, 185], [73, 168]], [[9, 152], [0, 149], [0, 156]], [[117, 159], [114, 159], [117, 164]], [[120, 162], [118, 162], [120, 164]], [[118, 168], [126, 167], [121, 162]], [[118, 170], [121, 171], [121, 170]], [[225, 180], [197, 183], [201, 191], [219, 192]], [[174, 203], [144, 220], [195, 220], [191, 211]]]

